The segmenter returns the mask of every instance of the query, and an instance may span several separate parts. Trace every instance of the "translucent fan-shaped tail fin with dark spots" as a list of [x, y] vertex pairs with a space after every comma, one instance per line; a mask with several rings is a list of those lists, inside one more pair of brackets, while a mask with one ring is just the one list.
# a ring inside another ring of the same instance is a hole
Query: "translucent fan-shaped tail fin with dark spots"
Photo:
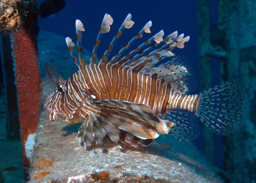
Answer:
[[227, 135], [241, 129], [247, 119], [242, 87], [236, 81], [228, 81], [200, 93], [195, 116], [216, 134]]

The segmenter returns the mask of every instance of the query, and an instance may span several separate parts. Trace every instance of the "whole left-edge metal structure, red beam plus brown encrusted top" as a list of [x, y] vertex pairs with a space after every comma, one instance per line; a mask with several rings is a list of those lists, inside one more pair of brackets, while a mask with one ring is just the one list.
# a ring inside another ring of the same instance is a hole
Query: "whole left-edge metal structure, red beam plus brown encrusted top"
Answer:
[[[37, 52], [37, 35], [39, 31], [37, 19], [39, 11], [36, 0], [26, 2], [20, 0], [3, 0], [0, 2], [0, 10], [0, 33], [6, 34], [1, 36], [1, 60], [6, 76], [13, 75], [12, 68], [5, 67], [7, 63], [14, 65], [20, 135], [23, 149], [23, 166], [26, 173], [26, 168], [29, 167], [32, 160], [33, 144], [35, 143], [34, 136], [41, 109], [41, 80]], [[12, 58], [6, 57], [7, 54], [12, 55]], [[11, 65], [9, 64], [9, 66]], [[9, 91], [8, 87], [8, 83], [6, 83], [7, 92]], [[9, 92], [7, 94], [7, 100], [10, 95], [12, 95], [12, 98], [13, 95], [16, 95], [16, 90]], [[15, 104], [15, 102], [9, 100], [8, 106], [10, 108]], [[17, 106], [15, 106], [16, 109]], [[14, 131], [14, 129], [17, 129], [17, 114], [15, 119], [10, 117], [15, 113], [17, 112], [9, 110], [7, 116], [7, 130], [9, 134], [11, 134], [10, 130]]]

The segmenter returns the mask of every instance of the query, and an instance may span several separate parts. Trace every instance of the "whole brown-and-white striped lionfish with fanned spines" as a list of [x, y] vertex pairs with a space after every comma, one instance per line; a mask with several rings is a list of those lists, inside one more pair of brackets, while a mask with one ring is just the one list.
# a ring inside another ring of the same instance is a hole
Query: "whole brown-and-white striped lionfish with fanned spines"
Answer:
[[[172, 134], [180, 141], [192, 141], [199, 134], [201, 120], [216, 134], [227, 135], [241, 129], [246, 119], [245, 94], [239, 83], [228, 81], [205, 92], [192, 94], [197, 84], [186, 56], [171, 51], [182, 49], [189, 36], [177, 31], [163, 38], [163, 30], [121, 57], [134, 41], [151, 33], [152, 22], [133, 37], [111, 60], [109, 55], [124, 29], [134, 22], [131, 14], [125, 18], [100, 61], [97, 50], [102, 34], [110, 31], [113, 19], [105, 14], [88, 64], [81, 46], [84, 26], [76, 20], [78, 59], [73, 55], [75, 44], [66, 38], [73, 61], [79, 68], [64, 80], [46, 63], [46, 72], [56, 83], [55, 91], [44, 100], [49, 120], [57, 116], [84, 121], [78, 140], [84, 149], [92, 150], [96, 143], [103, 152], [107, 135], [118, 147], [142, 148], [160, 134]], [[169, 61], [160, 63], [164, 58]], [[109, 61], [108, 61], [109, 60]]]

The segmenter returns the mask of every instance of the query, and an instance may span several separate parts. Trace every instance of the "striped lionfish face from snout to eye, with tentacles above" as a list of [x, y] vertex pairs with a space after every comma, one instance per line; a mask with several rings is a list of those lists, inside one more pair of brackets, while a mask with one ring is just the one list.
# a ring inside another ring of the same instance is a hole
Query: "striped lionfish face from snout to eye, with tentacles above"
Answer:
[[53, 69], [45, 63], [46, 73], [52, 80], [56, 83], [55, 91], [50, 92], [44, 99], [44, 110], [49, 112], [49, 120], [55, 122], [57, 116], [67, 117], [67, 115], [62, 111], [60, 104], [61, 99], [64, 97], [67, 91], [66, 80], [64, 80], [59, 74], [57, 74], [58, 66], [54, 60], [52, 60]]

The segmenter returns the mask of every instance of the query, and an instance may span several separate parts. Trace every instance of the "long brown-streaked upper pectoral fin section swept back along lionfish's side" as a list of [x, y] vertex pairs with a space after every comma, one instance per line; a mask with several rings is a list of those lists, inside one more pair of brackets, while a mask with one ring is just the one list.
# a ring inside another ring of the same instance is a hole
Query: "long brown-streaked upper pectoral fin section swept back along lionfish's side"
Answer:
[[[104, 105], [104, 103], [110, 105]], [[155, 139], [159, 136], [154, 125], [154, 121], [159, 118], [152, 115], [149, 106], [119, 100], [96, 101], [93, 105], [99, 109], [99, 115], [118, 129], [142, 139]]]

